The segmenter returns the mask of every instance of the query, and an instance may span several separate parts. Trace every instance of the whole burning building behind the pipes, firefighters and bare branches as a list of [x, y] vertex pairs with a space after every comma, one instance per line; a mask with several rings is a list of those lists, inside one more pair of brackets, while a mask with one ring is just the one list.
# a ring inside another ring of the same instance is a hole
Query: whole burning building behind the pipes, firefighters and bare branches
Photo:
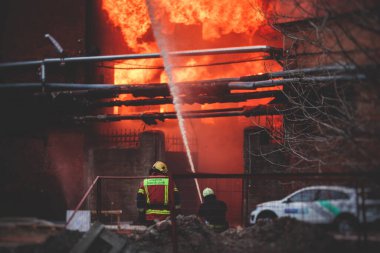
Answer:
[[[375, 111], [377, 100], [369, 99], [374, 107], [365, 100], [378, 93], [360, 93], [362, 103], [352, 103], [357, 90], [340, 84], [373, 73], [361, 67], [376, 69], [368, 50], [378, 51], [359, 42], [378, 41], [378, 34], [369, 29], [372, 19], [359, 22], [368, 28], [363, 41], [347, 29], [325, 34], [322, 28], [340, 22], [358, 25], [349, 15], [361, 12], [307, 2], [4, 1], [1, 215], [63, 219], [97, 176], [108, 176], [86, 208], [120, 209], [124, 220], [134, 220], [138, 180], [131, 178], [146, 175], [156, 160], [186, 175], [342, 172], [347, 167], [337, 164], [345, 163], [355, 171], [358, 165], [344, 159], [357, 150], [349, 146], [339, 160], [336, 147], [376, 115], [347, 128], [343, 123], [354, 117], [347, 105]], [[360, 62], [346, 61], [352, 58]], [[360, 150], [356, 161], [375, 157]], [[371, 162], [365, 166], [374, 171]], [[122, 176], [131, 178], [116, 178]], [[251, 183], [242, 177], [177, 182], [185, 214], [197, 211], [200, 189], [210, 186], [228, 203], [233, 225], [244, 224], [258, 201], [247, 194]], [[282, 190], [262, 190], [259, 200]]]

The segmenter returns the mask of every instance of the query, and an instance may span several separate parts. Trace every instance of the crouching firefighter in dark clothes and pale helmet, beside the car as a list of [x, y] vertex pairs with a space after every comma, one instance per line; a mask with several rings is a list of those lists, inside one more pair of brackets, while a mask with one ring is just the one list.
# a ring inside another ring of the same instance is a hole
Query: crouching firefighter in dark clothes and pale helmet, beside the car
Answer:
[[219, 233], [228, 229], [226, 203], [218, 200], [211, 188], [205, 188], [202, 195], [204, 202], [199, 207], [198, 216], [215, 232]]

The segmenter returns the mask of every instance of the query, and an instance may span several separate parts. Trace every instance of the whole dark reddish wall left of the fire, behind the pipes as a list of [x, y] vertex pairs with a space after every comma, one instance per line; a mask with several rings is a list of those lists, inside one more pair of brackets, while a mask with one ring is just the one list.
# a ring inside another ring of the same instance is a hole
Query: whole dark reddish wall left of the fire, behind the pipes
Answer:
[[[54, 36], [65, 56], [85, 53], [85, 0], [0, 2], [0, 61], [58, 57], [44, 37]], [[38, 67], [7, 69], [0, 82], [38, 82]], [[47, 81], [83, 82], [83, 68], [48, 66]], [[0, 113], [1, 216], [59, 219], [84, 190], [83, 129], [52, 125], [44, 99], [4, 95]]]

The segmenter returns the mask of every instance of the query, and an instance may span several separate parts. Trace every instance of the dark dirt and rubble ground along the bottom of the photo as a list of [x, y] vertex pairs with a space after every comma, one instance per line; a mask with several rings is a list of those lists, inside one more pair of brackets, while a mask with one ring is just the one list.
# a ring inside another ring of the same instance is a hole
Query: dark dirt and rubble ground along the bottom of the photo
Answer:
[[[122, 231], [120, 231], [122, 232]], [[1, 247], [1, 253], [70, 252], [85, 235], [77, 231], [57, 232], [44, 243]], [[177, 217], [178, 252], [196, 253], [329, 253], [378, 252], [380, 244], [360, 244], [357, 240], [336, 240], [325, 229], [289, 218], [271, 223], [259, 223], [248, 228], [230, 228], [214, 233], [196, 216]], [[119, 233], [125, 246], [119, 252], [172, 252], [172, 229], [169, 221], [161, 222], [145, 231]], [[97, 252], [109, 252], [97, 250]]]

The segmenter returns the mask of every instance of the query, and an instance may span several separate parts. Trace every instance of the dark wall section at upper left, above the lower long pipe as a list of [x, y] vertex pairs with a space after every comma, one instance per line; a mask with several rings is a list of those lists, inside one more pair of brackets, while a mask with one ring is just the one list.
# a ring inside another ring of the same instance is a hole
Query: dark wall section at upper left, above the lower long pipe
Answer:
[[[54, 46], [44, 37], [54, 36], [65, 50], [65, 56], [85, 53], [85, 0], [5, 0], [0, 9], [1, 61], [40, 60], [59, 57]], [[0, 81], [39, 81], [38, 67], [1, 72]], [[48, 81], [83, 82], [82, 69], [74, 64], [50, 66]]]

